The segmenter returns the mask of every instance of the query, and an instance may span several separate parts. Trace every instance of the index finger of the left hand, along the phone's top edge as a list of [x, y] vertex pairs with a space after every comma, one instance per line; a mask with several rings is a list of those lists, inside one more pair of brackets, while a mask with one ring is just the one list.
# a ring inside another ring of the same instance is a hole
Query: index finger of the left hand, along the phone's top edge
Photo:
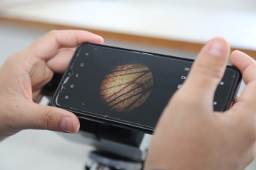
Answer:
[[52, 30], [31, 44], [30, 52], [38, 58], [49, 60], [60, 49], [77, 47], [83, 42], [102, 44], [103, 38], [85, 30]]

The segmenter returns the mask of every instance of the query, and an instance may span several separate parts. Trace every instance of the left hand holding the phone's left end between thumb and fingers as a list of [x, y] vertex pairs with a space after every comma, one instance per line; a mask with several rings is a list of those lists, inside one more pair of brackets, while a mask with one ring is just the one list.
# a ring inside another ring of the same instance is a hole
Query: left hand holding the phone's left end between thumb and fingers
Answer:
[[65, 72], [74, 48], [85, 41], [102, 44], [103, 39], [82, 30], [51, 31], [4, 62], [0, 67], [0, 141], [22, 129], [79, 130], [76, 115], [38, 102], [42, 87], [54, 72]]

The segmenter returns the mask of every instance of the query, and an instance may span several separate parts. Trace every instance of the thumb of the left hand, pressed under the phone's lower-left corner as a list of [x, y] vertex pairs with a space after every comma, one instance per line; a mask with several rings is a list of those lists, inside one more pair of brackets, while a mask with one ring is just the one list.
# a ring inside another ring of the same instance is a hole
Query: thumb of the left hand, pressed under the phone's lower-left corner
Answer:
[[21, 129], [47, 129], [57, 132], [75, 133], [79, 130], [79, 119], [71, 112], [53, 106], [27, 103]]

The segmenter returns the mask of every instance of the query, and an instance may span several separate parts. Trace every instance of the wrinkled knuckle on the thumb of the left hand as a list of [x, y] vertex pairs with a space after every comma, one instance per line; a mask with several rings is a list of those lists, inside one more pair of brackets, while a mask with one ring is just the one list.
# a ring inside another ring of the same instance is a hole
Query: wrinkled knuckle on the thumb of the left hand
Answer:
[[42, 115], [41, 124], [44, 129], [53, 130], [54, 129], [54, 114], [50, 110], [47, 110]]

